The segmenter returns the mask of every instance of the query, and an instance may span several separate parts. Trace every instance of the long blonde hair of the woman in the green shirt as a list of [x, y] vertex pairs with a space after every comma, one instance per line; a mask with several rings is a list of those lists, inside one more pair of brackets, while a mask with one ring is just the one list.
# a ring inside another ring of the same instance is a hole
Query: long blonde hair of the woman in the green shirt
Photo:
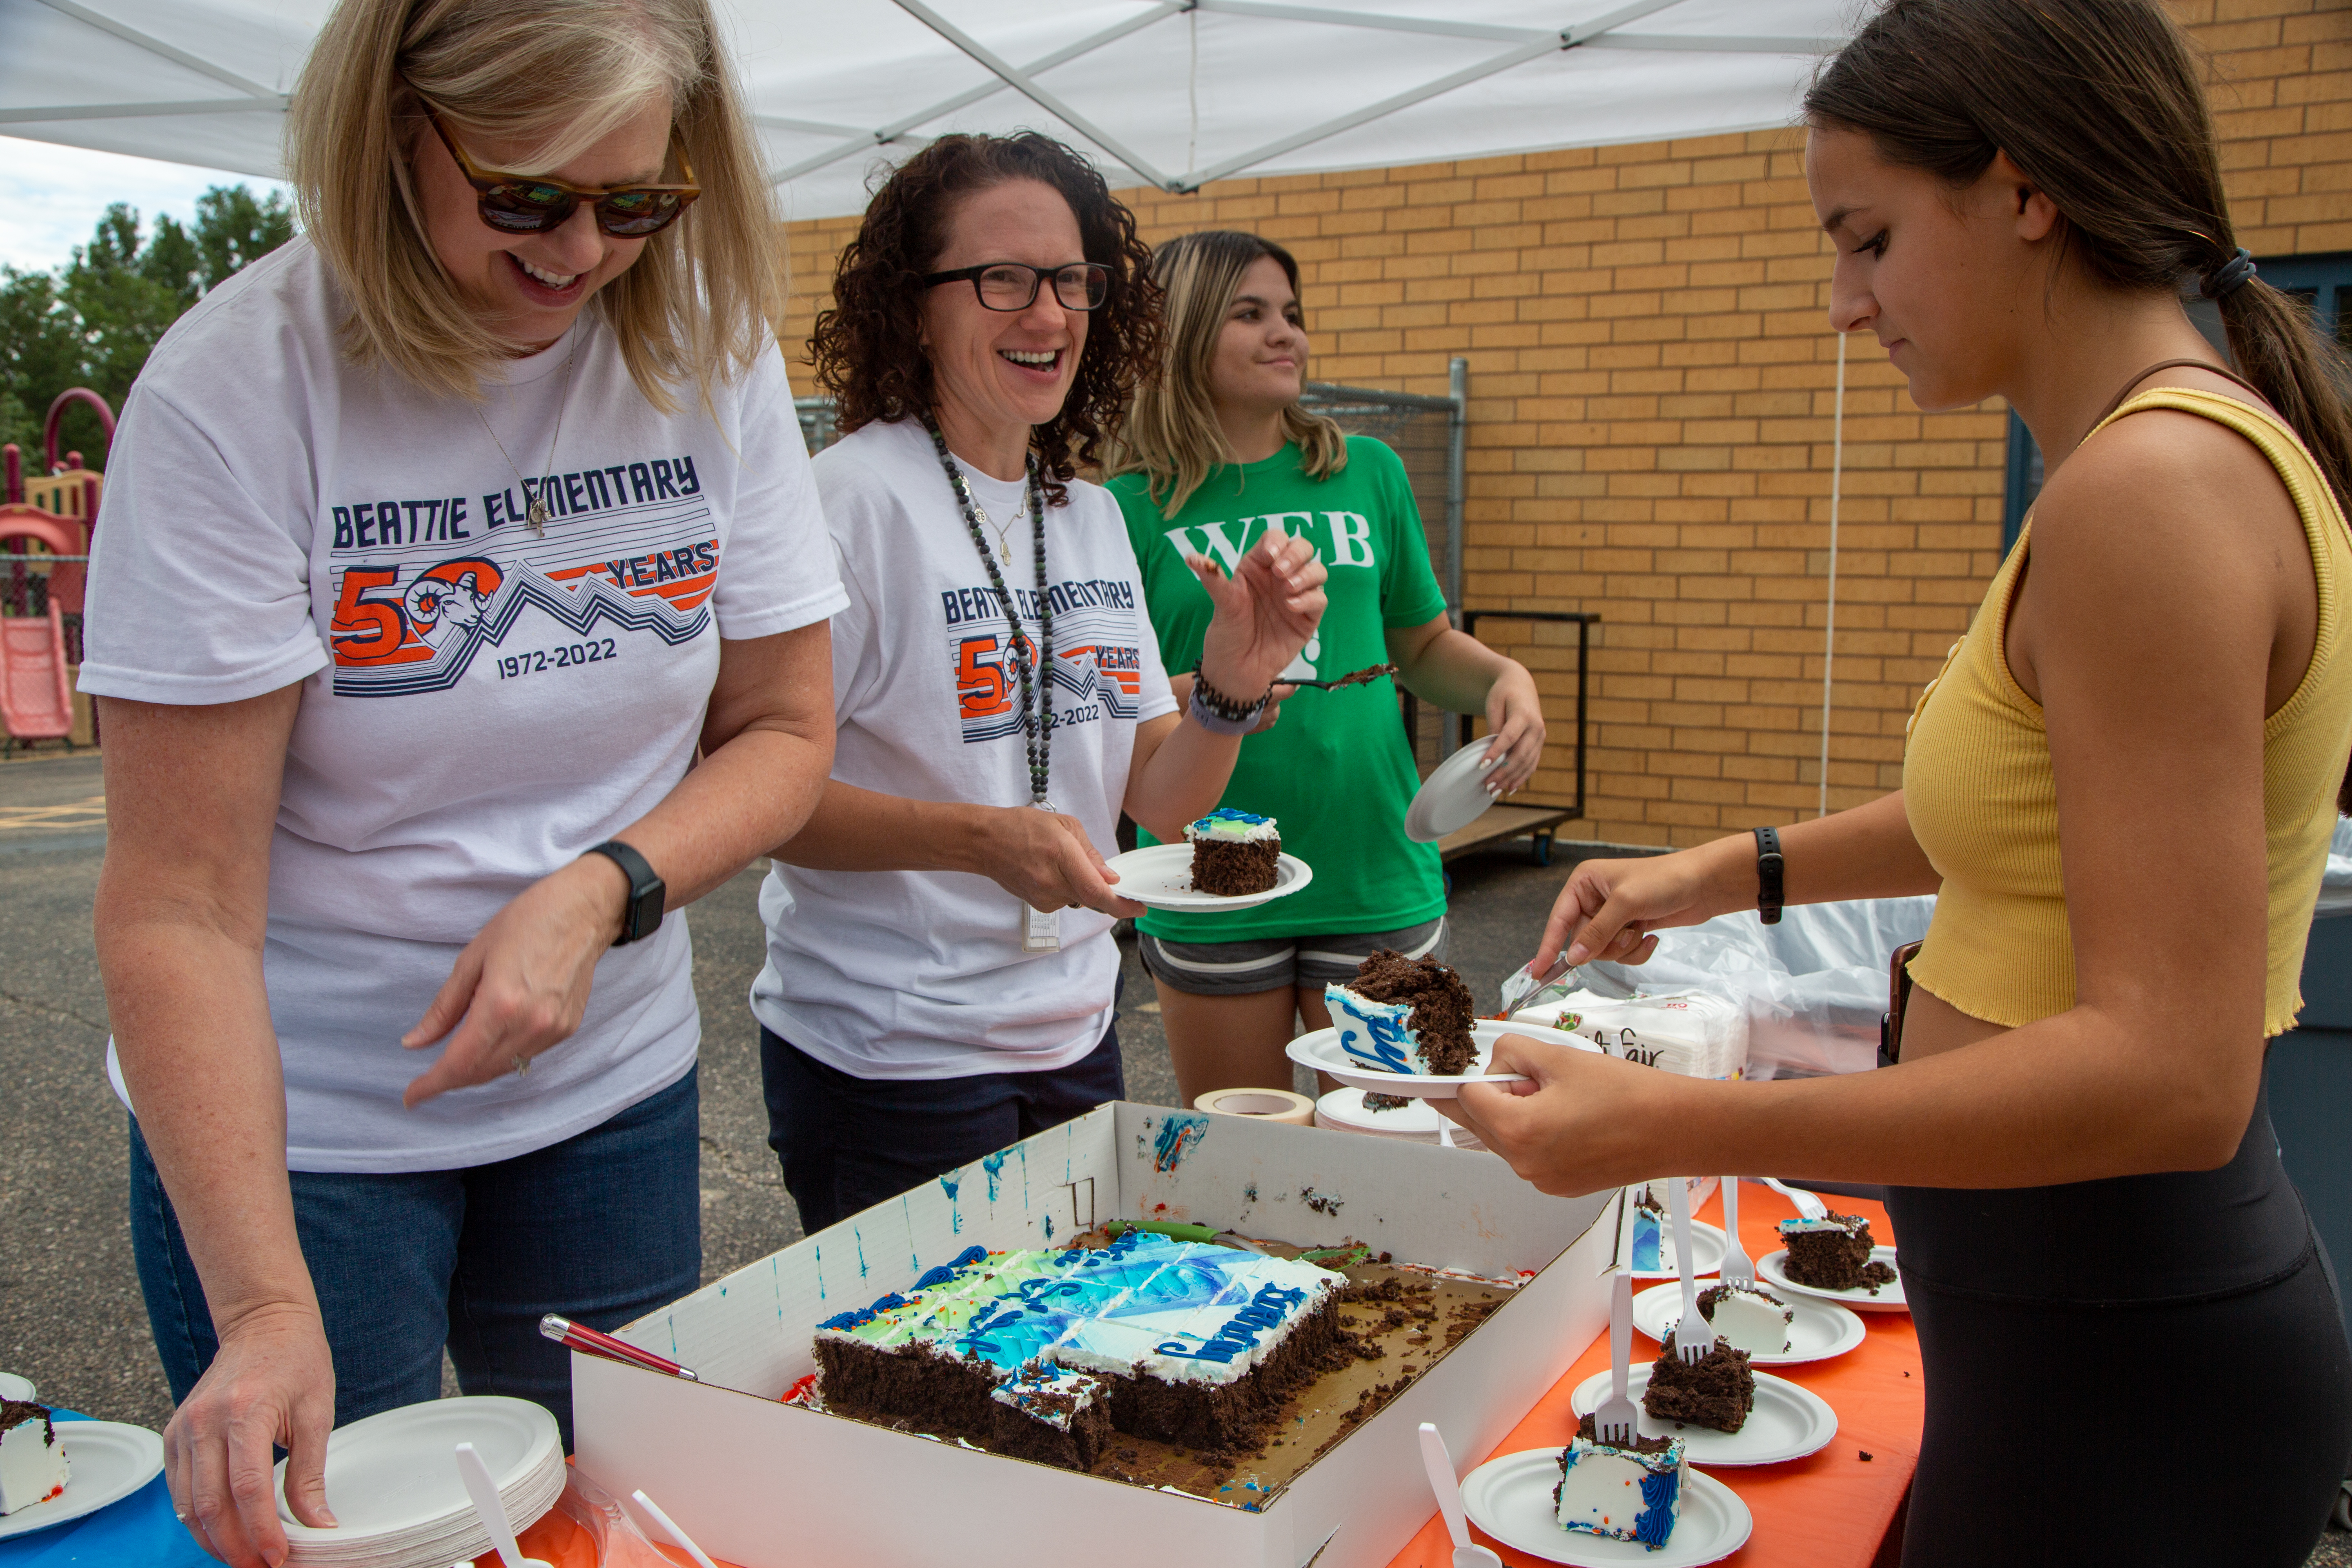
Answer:
[[[1261, 256], [1275, 259], [1296, 294], [1298, 261], [1258, 235], [1211, 228], [1152, 252], [1152, 277], [1167, 292], [1167, 353], [1160, 374], [1136, 388], [1136, 407], [1108, 473], [1150, 475], [1162, 517], [1181, 512], [1209, 473], [1232, 461], [1209, 400], [1209, 364], [1242, 275]], [[1348, 437], [1331, 418], [1294, 402], [1282, 411], [1282, 433], [1298, 442], [1298, 465], [1310, 480], [1329, 480], [1348, 465]]]

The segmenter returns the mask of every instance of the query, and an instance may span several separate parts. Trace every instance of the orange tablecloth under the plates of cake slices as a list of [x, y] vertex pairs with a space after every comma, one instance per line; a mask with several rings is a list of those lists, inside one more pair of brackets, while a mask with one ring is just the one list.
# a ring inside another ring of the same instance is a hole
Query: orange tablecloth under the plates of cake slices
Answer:
[[[1872, 1239], [1893, 1244], [1886, 1211], [1858, 1199], [1832, 1199], [1839, 1213], [1870, 1218]], [[1722, 1197], [1700, 1215], [1724, 1222]], [[1762, 1258], [1780, 1246], [1773, 1225], [1788, 1218], [1788, 1204], [1759, 1187], [1740, 1190], [1740, 1241], [1748, 1258]], [[1926, 1399], [1919, 1382], [1919, 1338], [1907, 1312], [1863, 1312], [1870, 1338], [1832, 1361], [1773, 1366], [1773, 1378], [1802, 1382], [1837, 1410], [1837, 1436], [1820, 1453], [1788, 1465], [1743, 1469], [1708, 1469], [1729, 1486], [1755, 1514], [1748, 1544], [1724, 1559], [1738, 1568], [1867, 1568], [1903, 1507], [1903, 1490], [1919, 1465], [1919, 1427]], [[1635, 1361], [1656, 1356], [1658, 1345], [1635, 1331]], [[1609, 1335], [1602, 1333], [1569, 1375], [1526, 1413], [1496, 1455], [1522, 1448], [1566, 1448], [1576, 1418], [1569, 1415], [1569, 1392], [1592, 1373], [1609, 1371]], [[1863, 1460], [1860, 1455], [1870, 1455]], [[1435, 1507], [1435, 1505], [1432, 1505]], [[1541, 1563], [1512, 1552], [1472, 1526], [1472, 1537], [1503, 1554], [1505, 1563]], [[1399, 1552], [1390, 1568], [1449, 1568], [1454, 1542], [1437, 1514]]]

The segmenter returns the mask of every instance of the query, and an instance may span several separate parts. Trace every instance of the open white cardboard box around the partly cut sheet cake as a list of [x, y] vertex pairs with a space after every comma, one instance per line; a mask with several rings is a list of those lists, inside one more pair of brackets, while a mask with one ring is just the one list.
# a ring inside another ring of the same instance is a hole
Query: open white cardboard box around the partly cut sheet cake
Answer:
[[[644, 1488], [743, 1568], [1381, 1568], [1435, 1512], [1421, 1422], [1468, 1472], [1606, 1326], [1616, 1197], [1543, 1197], [1489, 1154], [1120, 1100], [621, 1331], [703, 1382], [574, 1354], [579, 1462], [614, 1495]], [[1256, 1509], [776, 1403], [816, 1371], [818, 1321], [969, 1246], [1051, 1246], [1112, 1218], [1355, 1237], [1397, 1262], [1534, 1274]]]

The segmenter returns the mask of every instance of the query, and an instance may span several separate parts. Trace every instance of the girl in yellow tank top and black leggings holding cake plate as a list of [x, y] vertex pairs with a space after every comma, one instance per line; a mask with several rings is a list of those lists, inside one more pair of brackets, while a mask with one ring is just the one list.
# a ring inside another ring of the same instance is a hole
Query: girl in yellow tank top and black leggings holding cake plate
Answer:
[[2352, 755], [2343, 367], [2234, 247], [2157, 0], [1889, 0], [1806, 120], [1832, 324], [1922, 409], [2004, 397], [2053, 468], [1903, 790], [1585, 860], [1536, 961], [1940, 891], [1900, 1063], [1715, 1084], [1505, 1039], [1529, 1081], [1439, 1105], [1548, 1192], [1886, 1185], [1926, 1363], [1905, 1568], [2291, 1568], [2352, 1455], [2352, 1347], [2263, 1100]]

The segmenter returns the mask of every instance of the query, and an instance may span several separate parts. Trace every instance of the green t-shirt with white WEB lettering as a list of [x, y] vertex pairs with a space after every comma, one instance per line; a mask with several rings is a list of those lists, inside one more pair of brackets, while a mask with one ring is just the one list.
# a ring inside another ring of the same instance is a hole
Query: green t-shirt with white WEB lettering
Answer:
[[[1207, 555], [1230, 571], [1265, 534], [1268, 517], [1312, 541], [1331, 571], [1329, 609], [1305, 649], [1319, 679], [1388, 663], [1383, 632], [1423, 625], [1446, 609], [1404, 463], [1371, 437], [1350, 435], [1348, 465], [1329, 480], [1298, 470], [1296, 444], [1261, 463], [1218, 468], [1174, 520], [1160, 515], [1145, 475], [1112, 480], [1110, 494], [1127, 515], [1143, 604], [1171, 675], [1200, 663], [1211, 614], [1209, 592], [1183, 557]], [[1230, 914], [1152, 910], [1143, 929], [1171, 943], [1240, 943], [1397, 931], [1437, 919], [1446, 912], [1437, 846], [1404, 837], [1404, 809], [1418, 788], [1395, 679], [1296, 691], [1270, 731], [1242, 738], [1218, 804], [1275, 818], [1282, 851], [1312, 865], [1315, 882]], [[1148, 832], [1141, 842], [1157, 844]]]

